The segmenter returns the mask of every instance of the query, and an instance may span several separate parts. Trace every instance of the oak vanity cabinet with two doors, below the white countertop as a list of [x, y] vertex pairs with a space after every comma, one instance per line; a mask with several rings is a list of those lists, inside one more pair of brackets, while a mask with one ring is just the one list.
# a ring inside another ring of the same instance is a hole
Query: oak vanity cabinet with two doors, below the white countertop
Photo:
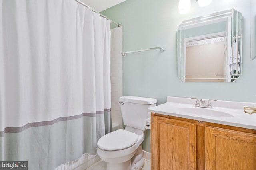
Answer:
[[256, 130], [151, 113], [151, 170], [256, 170]]

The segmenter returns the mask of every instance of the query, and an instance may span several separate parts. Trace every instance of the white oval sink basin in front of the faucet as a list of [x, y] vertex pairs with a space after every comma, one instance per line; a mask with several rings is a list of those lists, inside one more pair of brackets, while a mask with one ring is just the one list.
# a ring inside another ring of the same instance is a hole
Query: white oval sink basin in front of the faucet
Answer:
[[178, 108], [182, 112], [192, 113], [196, 115], [212, 116], [212, 117], [233, 117], [233, 115], [218, 111], [215, 109], [200, 108], [200, 107], [180, 107]]

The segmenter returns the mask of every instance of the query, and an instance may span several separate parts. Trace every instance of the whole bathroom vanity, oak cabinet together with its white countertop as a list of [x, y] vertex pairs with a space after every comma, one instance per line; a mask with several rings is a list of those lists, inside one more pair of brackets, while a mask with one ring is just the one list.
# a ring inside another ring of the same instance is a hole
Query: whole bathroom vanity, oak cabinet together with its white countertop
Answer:
[[151, 107], [152, 170], [255, 170], [255, 103], [214, 101], [195, 107], [190, 98], [167, 97]]

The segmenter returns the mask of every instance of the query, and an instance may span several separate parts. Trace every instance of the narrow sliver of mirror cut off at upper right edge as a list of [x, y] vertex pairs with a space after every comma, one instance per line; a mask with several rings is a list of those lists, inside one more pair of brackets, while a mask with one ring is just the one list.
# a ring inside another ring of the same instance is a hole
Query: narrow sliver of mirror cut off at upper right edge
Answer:
[[256, 0], [251, 0], [251, 60], [256, 59]]

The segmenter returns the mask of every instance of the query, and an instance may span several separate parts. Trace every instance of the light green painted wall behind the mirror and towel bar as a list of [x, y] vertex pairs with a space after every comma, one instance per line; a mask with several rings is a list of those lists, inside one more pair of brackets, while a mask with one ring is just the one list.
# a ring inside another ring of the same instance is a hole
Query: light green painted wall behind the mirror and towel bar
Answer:
[[[166, 96], [256, 102], [256, 60], [250, 60], [250, 0], [214, 0], [206, 7], [192, 0], [190, 12], [184, 15], [178, 12], [178, 2], [126, 0], [102, 12], [123, 26], [123, 51], [165, 47], [164, 52], [152, 50], [123, 57], [123, 95], [156, 98], [157, 104], [165, 103]], [[231, 8], [244, 17], [243, 75], [232, 83], [182, 82], [177, 76], [177, 27], [183, 20]], [[143, 149], [150, 152], [150, 131]]]

